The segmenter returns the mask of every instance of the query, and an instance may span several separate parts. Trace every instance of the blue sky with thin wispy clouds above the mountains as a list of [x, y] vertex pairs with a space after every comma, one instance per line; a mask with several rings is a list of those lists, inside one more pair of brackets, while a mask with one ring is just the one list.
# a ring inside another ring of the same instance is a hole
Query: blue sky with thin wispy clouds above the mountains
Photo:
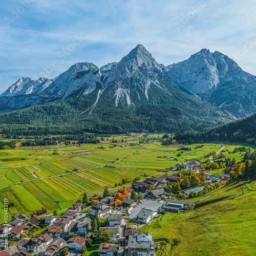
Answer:
[[165, 66], [203, 48], [256, 75], [253, 0], [13, 0], [0, 9], [0, 93], [20, 77], [99, 68], [142, 44]]

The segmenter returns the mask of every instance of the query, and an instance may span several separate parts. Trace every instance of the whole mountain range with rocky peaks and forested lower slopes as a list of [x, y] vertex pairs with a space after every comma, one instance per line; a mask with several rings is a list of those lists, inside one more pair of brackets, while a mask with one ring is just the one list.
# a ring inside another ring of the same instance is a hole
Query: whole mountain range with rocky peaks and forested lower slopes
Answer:
[[[103, 121], [108, 132], [113, 131], [111, 122], [121, 120], [115, 132], [124, 132], [124, 123], [134, 131], [178, 131], [188, 126], [204, 130], [256, 112], [255, 89], [256, 77], [220, 52], [202, 49], [166, 67], [138, 45], [119, 62], [101, 68], [80, 62], [54, 79], [20, 78], [0, 95], [0, 111], [15, 111], [2, 114], [0, 125], [9, 123], [13, 113], [27, 120], [31, 111], [38, 116], [42, 109], [60, 106], [60, 113], [65, 109], [66, 116], [73, 113], [86, 123], [97, 119], [96, 125], [118, 112], [119, 120]], [[54, 118], [61, 117], [55, 114]], [[159, 122], [162, 118], [165, 121]], [[89, 126], [84, 131], [103, 131]]]

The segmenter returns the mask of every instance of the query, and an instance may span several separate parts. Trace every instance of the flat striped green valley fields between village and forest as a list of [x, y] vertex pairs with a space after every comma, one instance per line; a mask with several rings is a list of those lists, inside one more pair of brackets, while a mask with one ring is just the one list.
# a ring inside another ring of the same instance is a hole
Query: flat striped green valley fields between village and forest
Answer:
[[[104, 138], [106, 142], [106, 138]], [[138, 137], [115, 137], [127, 142], [104, 143], [105, 149], [100, 150], [100, 144], [51, 145], [37, 147], [17, 146], [15, 150], [0, 151], [0, 208], [3, 209], [4, 198], [14, 203], [9, 208], [9, 220], [15, 212], [30, 214], [35, 210], [46, 207], [48, 213], [61, 211], [70, 207], [77, 199], [81, 199], [84, 192], [93, 196], [102, 193], [105, 186], [115, 191], [115, 184], [121, 183], [122, 177], [133, 180], [160, 175], [164, 168], [175, 166], [186, 160], [199, 159], [206, 161], [206, 155], [218, 151], [220, 146], [205, 144], [195, 149], [197, 144], [189, 145], [192, 150], [177, 156], [180, 146], [162, 146], [160, 142], [131, 146], [131, 142], [138, 142]], [[107, 141], [108, 142], [108, 141]], [[112, 147], [114, 144], [117, 146]], [[233, 151], [236, 145], [219, 142], [225, 149]], [[59, 151], [53, 155], [53, 150]], [[161, 156], [162, 158], [158, 158]], [[178, 161], [163, 158], [164, 156], [177, 158]], [[242, 154], [231, 154], [229, 157], [242, 159]], [[25, 160], [22, 160], [22, 159]], [[79, 172], [71, 173], [74, 168]], [[67, 173], [66, 170], [70, 171]], [[171, 172], [170, 172], [171, 173]], [[212, 170], [212, 174], [221, 174], [222, 169]], [[60, 177], [63, 175], [63, 177]], [[122, 187], [122, 185], [121, 185]], [[0, 223], [3, 214], [0, 214]]]

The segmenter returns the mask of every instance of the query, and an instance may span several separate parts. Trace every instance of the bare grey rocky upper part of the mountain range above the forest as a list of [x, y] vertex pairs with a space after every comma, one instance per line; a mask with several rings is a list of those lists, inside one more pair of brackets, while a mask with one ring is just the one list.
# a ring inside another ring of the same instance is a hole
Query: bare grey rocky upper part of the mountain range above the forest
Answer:
[[[138, 45], [119, 62], [108, 63], [100, 69], [93, 63], [80, 62], [54, 79], [40, 77], [34, 81], [20, 78], [1, 95], [10, 98], [3, 97], [0, 102], [9, 102], [12, 109], [19, 109], [83, 95], [91, 97], [93, 104], [82, 111], [91, 114], [102, 98], [115, 106], [155, 104], [166, 95], [175, 99], [180, 97], [184, 90], [173, 83], [201, 95], [218, 87], [222, 78], [244, 79], [256, 84], [256, 77], [244, 72], [235, 61], [220, 52], [202, 49], [187, 60], [164, 67], [142, 45]], [[22, 96], [24, 102], [20, 103], [17, 96]], [[223, 108], [227, 101], [226, 98], [221, 100]]]

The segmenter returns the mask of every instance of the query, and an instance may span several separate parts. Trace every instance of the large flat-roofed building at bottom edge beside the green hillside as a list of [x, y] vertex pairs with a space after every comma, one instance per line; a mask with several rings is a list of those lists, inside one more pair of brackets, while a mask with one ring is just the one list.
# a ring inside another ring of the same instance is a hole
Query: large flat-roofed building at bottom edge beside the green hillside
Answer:
[[129, 237], [129, 256], [155, 256], [155, 242], [150, 234], [137, 234]]

